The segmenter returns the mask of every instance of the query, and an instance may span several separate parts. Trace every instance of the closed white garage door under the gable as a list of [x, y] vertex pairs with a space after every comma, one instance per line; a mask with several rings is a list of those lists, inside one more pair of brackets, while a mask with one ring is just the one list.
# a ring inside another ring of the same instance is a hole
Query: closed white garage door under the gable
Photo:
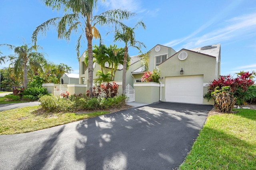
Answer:
[[203, 104], [203, 75], [166, 77], [166, 102]]

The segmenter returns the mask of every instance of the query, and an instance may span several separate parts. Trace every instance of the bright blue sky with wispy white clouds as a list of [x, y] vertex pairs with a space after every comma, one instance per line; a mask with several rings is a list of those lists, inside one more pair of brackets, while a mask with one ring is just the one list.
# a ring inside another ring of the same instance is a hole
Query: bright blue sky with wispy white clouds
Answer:
[[[256, 0], [99, 0], [95, 14], [109, 9], [126, 9], [137, 15], [126, 21], [133, 27], [138, 20], [144, 21], [146, 30], [137, 29], [136, 39], [147, 49], [156, 44], [192, 49], [206, 45], [221, 44], [221, 74], [234, 75], [240, 70], [256, 71]], [[0, 44], [22, 45], [23, 39], [31, 43], [35, 28], [44, 21], [62, 16], [62, 12], [46, 8], [40, 0], [0, 0]], [[97, 26], [104, 43], [114, 44], [113, 35], [106, 33], [111, 27]], [[58, 40], [54, 29], [40, 36], [38, 45], [43, 47], [46, 59], [56, 64], [71, 66], [78, 73], [76, 40], [73, 34], [70, 42]], [[93, 44], [98, 45], [97, 40]], [[116, 43], [123, 47], [122, 43]], [[87, 48], [82, 45], [80, 53]], [[13, 54], [0, 47], [4, 55]], [[129, 49], [130, 56], [137, 55], [136, 49]], [[0, 68], [8, 66], [2, 64]]]

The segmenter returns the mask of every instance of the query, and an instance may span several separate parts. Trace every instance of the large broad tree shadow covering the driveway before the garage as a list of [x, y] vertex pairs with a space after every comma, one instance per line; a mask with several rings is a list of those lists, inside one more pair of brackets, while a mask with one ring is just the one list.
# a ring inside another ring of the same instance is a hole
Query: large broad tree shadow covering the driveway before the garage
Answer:
[[206, 120], [205, 109], [212, 106], [175, 105], [147, 105], [81, 121], [76, 160], [85, 169], [178, 168]]

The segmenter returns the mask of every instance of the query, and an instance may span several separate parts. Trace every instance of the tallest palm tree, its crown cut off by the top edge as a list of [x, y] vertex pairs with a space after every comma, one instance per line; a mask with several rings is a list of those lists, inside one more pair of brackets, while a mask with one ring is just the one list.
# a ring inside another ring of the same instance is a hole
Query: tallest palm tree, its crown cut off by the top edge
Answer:
[[97, 0], [42, 0], [46, 6], [51, 7], [53, 10], [64, 9], [64, 16], [49, 19], [42, 23], [32, 34], [32, 41], [37, 41], [39, 33], [46, 34], [46, 31], [52, 26], [57, 27], [58, 38], [70, 40], [72, 31], [79, 35], [76, 52], [79, 59], [79, 49], [81, 47], [80, 41], [86, 37], [88, 47], [88, 86], [89, 94], [92, 96], [92, 81], [93, 81], [93, 53], [92, 53], [92, 39], [100, 38], [100, 33], [96, 25], [115, 25], [115, 29], [122, 28], [125, 25], [122, 20], [128, 20], [134, 13], [126, 10], [108, 10], [99, 15], [93, 15], [96, 10]]

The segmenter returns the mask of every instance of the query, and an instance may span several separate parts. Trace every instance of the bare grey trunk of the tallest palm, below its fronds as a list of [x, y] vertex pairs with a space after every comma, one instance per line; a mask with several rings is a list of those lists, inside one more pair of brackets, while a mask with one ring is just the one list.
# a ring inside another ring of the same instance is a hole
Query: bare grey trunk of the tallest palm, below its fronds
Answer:
[[87, 37], [88, 46], [88, 86], [89, 96], [92, 97], [92, 81], [93, 81], [93, 55], [92, 55], [92, 37]]

